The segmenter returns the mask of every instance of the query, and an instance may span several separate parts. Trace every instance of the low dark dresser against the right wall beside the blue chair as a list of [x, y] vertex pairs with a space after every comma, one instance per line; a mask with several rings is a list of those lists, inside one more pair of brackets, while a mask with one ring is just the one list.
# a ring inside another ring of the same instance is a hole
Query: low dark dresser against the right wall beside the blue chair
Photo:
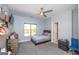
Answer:
[[69, 41], [68, 40], [58, 40], [58, 48], [67, 52], [69, 50]]

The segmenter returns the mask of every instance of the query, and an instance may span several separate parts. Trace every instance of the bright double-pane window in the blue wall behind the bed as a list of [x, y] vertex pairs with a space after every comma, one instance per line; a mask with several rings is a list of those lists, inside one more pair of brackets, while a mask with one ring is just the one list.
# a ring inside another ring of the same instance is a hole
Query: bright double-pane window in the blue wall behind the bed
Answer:
[[32, 36], [36, 34], [35, 24], [24, 24], [24, 36]]

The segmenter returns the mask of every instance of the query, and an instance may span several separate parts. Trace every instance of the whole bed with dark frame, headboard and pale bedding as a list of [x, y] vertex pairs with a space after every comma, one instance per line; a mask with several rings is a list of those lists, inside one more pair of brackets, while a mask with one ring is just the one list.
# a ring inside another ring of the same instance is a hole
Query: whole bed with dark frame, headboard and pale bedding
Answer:
[[31, 37], [31, 41], [35, 44], [41, 44], [41, 43], [45, 43], [48, 41], [51, 41], [51, 31], [50, 30], [44, 30], [43, 34], [41, 35], [34, 35]]

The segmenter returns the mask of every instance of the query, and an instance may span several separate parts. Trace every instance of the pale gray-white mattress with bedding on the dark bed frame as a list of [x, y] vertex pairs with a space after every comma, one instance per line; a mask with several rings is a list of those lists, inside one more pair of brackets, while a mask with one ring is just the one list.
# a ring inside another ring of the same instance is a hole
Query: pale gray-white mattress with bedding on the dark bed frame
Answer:
[[35, 36], [32, 36], [32, 40], [33, 40], [34, 42], [36, 42], [36, 43], [44, 42], [44, 41], [50, 40], [50, 36], [35, 35]]

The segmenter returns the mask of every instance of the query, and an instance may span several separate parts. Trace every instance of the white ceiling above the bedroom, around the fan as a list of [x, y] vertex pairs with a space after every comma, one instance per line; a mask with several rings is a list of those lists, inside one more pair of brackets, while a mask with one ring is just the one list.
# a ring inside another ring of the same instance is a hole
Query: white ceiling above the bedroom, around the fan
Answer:
[[48, 15], [57, 14], [68, 9], [77, 8], [76, 4], [8, 4], [7, 6], [14, 13], [18, 12], [34, 15], [36, 15], [42, 7], [44, 8], [44, 10], [53, 10], [53, 12], [49, 13]]

